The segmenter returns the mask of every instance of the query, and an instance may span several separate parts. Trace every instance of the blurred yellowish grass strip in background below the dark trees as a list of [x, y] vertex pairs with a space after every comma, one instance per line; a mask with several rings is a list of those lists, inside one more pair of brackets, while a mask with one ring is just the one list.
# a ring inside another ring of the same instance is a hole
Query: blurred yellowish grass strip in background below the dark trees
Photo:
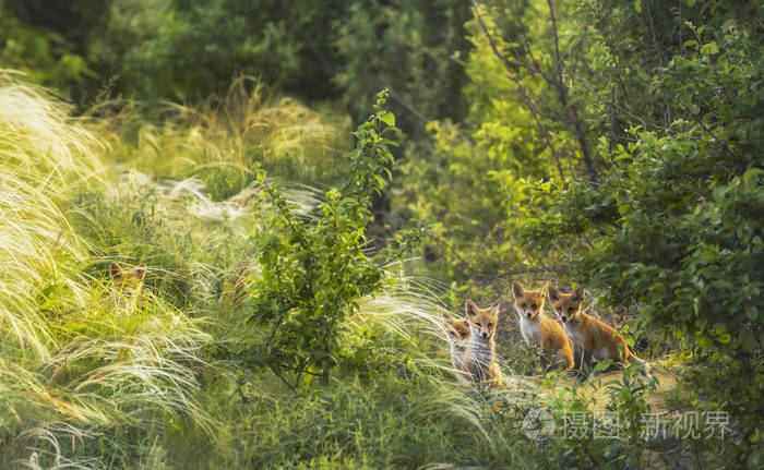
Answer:
[[154, 122], [131, 103], [105, 103], [93, 112], [115, 107], [102, 124], [117, 161], [154, 177], [195, 178], [213, 200], [240, 192], [260, 166], [296, 183], [327, 183], [345, 172], [339, 157], [349, 121], [276, 97], [255, 79], [236, 79], [224, 98], [199, 108], [166, 104]]

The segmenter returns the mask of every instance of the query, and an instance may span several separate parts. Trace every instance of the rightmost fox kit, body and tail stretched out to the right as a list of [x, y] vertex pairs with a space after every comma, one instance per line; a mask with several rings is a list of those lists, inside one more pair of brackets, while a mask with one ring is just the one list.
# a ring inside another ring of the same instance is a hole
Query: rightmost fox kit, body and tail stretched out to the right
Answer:
[[626, 341], [618, 332], [599, 320], [581, 311], [584, 289], [577, 287], [573, 293], [564, 294], [553, 287], [549, 288], [549, 300], [554, 312], [562, 321], [568, 337], [582, 351], [582, 363], [589, 364], [592, 359], [598, 361], [611, 359], [621, 363], [642, 365], [642, 374], [649, 377], [650, 365], [634, 355]]

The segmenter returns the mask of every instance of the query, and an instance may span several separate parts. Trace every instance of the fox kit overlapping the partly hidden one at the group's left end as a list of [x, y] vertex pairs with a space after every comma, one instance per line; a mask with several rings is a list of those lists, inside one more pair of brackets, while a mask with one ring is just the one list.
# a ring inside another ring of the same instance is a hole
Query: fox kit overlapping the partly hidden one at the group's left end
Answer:
[[496, 332], [499, 321], [499, 305], [478, 309], [471, 300], [465, 304], [467, 323], [469, 324], [469, 349], [471, 355], [468, 360], [473, 381], [478, 384], [501, 386], [503, 381], [501, 370], [496, 360]]

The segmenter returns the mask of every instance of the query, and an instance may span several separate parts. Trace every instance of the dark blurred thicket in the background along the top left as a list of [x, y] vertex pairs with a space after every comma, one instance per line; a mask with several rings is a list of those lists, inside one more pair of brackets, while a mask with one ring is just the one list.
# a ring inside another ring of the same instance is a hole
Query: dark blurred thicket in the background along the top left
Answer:
[[[358, 122], [390, 88], [406, 132], [461, 116], [469, 8], [455, 0], [2, 0], [0, 60], [83, 108], [103, 96], [188, 104], [252, 75]], [[406, 63], [406, 67], [401, 67]], [[403, 112], [406, 110], [406, 112]]]

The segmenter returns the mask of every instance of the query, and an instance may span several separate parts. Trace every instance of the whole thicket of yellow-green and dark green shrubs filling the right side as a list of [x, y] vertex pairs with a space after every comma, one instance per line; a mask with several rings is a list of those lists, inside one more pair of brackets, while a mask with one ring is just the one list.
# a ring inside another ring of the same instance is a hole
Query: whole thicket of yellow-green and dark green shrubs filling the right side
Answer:
[[432, 224], [428, 265], [497, 297], [553, 278], [633, 309], [653, 342], [687, 341], [695, 403], [736, 417], [719, 454], [760, 462], [762, 5], [473, 5], [470, 112], [430, 123], [397, 200]]

